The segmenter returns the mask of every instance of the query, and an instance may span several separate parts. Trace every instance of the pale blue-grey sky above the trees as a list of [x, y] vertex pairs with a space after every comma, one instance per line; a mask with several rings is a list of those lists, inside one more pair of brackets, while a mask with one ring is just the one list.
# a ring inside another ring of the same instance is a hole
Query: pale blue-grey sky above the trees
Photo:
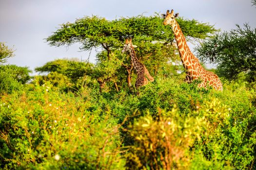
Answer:
[[0, 42], [15, 50], [7, 64], [31, 70], [62, 58], [95, 62], [96, 51], [80, 51], [81, 44], [50, 46], [45, 38], [60, 24], [84, 16], [112, 20], [164, 14], [168, 9], [174, 9], [179, 17], [209, 23], [221, 31], [244, 23], [256, 28], [256, 6], [251, 0], [0, 0]]

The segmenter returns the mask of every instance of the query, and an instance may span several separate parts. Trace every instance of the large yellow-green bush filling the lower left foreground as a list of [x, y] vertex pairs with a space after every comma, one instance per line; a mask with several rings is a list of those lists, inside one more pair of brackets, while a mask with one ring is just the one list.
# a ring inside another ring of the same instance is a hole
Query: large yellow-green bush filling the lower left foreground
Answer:
[[50, 84], [21, 96], [2, 96], [1, 168], [117, 169], [124, 161], [116, 120], [99, 109], [90, 111], [91, 105]]

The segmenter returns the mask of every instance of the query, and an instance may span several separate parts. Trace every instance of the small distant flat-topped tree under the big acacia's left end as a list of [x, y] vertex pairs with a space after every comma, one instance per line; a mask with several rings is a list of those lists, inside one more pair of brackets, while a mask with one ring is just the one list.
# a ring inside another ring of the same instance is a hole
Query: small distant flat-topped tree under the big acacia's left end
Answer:
[[94, 77], [93, 66], [78, 59], [57, 59], [35, 68], [36, 71], [47, 75], [36, 76], [33, 83], [43, 85], [49, 81], [64, 91], [78, 89], [83, 83], [94, 84], [91, 80]]

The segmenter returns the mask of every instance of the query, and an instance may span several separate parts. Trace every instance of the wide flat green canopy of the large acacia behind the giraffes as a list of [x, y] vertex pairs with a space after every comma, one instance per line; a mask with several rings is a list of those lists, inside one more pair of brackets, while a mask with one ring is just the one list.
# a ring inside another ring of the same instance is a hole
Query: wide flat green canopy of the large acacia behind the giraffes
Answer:
[[[185, 36], [206, 38], [217, 30], [207, 23], [195, 19], [177, 18]], [[51, 46], [81, 43], [81, 50], [92, 47], [121, 47], [123, 35], [143, 36], [145, 41], [162, 41], [169, 43], [174, 39], [172, 30], [164, 27], [159, 15], [145, 17], [121, 17], [107, 20], [104, 17], [92, 16], [77, 19], [74, 23], [61, 24], [46, 40]], [[173, 38], [172, 38], [173, 37]], [[136, 38], [135, 38], [136, 40]]]

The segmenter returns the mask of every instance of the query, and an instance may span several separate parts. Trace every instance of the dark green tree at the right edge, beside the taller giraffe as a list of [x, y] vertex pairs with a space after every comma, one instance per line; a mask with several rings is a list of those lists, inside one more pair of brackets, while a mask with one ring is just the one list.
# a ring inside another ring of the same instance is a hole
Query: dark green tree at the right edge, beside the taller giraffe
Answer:
[[228, 80], [244, 72], [249, 82], [256, 81], [256, 29], [248, 24], [205, 40], [197, 53], [202, 61], [217, 64], [219, 75]]

